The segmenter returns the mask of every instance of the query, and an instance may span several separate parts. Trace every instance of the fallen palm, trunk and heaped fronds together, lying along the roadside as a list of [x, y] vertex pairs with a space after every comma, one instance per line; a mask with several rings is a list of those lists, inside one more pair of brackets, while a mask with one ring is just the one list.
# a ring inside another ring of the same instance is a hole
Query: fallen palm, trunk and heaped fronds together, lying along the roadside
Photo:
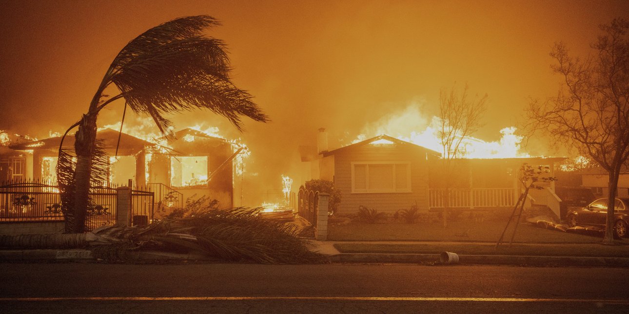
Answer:
[[[106, 259], [118, 260], [129, 251], [196, 251], [225, 261], [300, 264], [325, 261], [309, 250], [293, 224], [264, 219], [260, 208], [195, 208], [184, 217], [164, 219], [147, 227], [108, 226], [86, 234], [0, 236], [0, 247], [97, 247]], [[107, 248], [109, 247], [109, 249]], [[114, 252], [114, 254], [111, 254]], [[111, 258], [113, 256], [113, 258]]]

